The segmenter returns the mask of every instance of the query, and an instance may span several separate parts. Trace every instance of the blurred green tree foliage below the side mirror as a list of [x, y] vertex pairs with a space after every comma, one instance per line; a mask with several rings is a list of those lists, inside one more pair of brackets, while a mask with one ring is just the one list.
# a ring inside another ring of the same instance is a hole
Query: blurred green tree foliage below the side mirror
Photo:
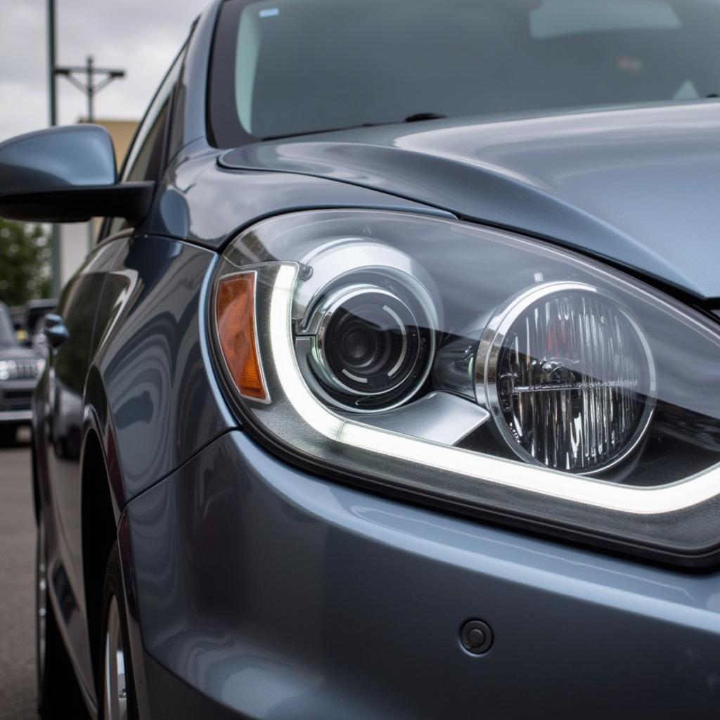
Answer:
[[23, 305], [50, 295], [50, 240], [41, 225], [0, 218], [0, 301]]

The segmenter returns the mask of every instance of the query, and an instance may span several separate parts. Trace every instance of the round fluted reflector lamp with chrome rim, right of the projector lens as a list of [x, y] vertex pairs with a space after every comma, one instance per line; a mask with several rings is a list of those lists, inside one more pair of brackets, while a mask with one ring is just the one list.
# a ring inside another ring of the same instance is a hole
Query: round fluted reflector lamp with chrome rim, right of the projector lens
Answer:
[[617, 464], [654, 408], [654, 365], [634, 320], [593, 287], [532, 289], [485, 338], [485, 394], [516, 454], [568, 472]]

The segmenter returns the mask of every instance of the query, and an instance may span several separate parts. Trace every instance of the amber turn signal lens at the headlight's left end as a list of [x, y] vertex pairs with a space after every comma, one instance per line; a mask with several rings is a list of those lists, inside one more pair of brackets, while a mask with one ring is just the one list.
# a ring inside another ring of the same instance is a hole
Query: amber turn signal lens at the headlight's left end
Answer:
[[230, 375], [243, 397], [267, 400], [255, 335], [256, 274], [246, 272], [222, 279], [215, 313], [220, 348]]

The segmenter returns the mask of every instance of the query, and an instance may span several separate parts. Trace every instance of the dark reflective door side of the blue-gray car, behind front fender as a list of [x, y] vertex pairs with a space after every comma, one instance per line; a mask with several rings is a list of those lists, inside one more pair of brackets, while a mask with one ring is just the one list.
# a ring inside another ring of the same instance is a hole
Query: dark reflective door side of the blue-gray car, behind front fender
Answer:
[[49, 596], [78, 682], [90, 701], [94, 681], [81, 557], [81, 461], [86, 438], [83, 389], [96, 346], [96, 320], [103, 315], [105, 273], [119, 249], [112, 245], [96, 248], [63, 290], [58, 312], [66, 321], [84, 322], [81, 329], [71, 325], [68, 341], [50, 353], [33, 402], [38, 501], [48, 540]]

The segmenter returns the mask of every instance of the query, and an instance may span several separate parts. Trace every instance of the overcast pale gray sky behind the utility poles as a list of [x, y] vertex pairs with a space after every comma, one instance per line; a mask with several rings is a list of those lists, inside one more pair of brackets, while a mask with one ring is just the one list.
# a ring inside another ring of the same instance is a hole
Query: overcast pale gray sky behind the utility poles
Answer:
[[[206, 0], [55, 0], [58, 64], [124, 68], [96, 98], [96, 117], [138, 119]], [[0, 141], [48, 125], [46, 0], [0, 0]], [[58, 78], [60, 123], [86, 112]]]

